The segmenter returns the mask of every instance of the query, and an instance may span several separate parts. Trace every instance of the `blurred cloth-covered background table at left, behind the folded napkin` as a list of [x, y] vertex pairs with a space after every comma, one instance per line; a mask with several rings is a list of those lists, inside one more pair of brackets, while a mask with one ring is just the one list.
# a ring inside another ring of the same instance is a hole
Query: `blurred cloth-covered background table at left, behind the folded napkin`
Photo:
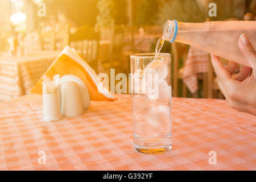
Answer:
[[36, 51], [27, 56], [0, 56], [0, 101], [29, 93], [60, 51]]

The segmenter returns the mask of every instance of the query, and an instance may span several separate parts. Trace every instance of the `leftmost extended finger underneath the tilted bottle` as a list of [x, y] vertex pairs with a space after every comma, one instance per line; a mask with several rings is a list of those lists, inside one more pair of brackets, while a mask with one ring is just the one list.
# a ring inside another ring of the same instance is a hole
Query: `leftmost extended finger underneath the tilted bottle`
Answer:
[[212, 65], [214, 68], [214, 71], [220, 80], [222, 86], [226, 88], [229, 83], [232, 82], [230, 73], [223, 67], [220, 58], [218, 56], [210, 55], [212, 57]]

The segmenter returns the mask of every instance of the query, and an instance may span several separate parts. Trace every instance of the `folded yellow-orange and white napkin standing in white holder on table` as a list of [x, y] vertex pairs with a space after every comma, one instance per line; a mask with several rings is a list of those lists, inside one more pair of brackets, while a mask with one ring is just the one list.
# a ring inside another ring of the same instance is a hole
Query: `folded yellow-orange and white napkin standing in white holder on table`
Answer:
[[[87, 86], [91, 101], [116, 100], [114, 94], [110, 93], [105, 87], [100, 86], [100, 92], [98, 92], [97, 85], [101, 84], [101, 81], [97, 79], [96, 72], [82, 59], [82, 56], [75, 49], [71, 49], [69, 46], [63, 49], [57, 59], [47, 69], [46, 73], [44, 73], [44, 75], [51, 78], [56, 74], [59, 74], [60, 77], [64, 75], [75, 75], [79, 77]], [[42, 81], [43, 76], [36, 82], [30, 92], [42, 94]]]

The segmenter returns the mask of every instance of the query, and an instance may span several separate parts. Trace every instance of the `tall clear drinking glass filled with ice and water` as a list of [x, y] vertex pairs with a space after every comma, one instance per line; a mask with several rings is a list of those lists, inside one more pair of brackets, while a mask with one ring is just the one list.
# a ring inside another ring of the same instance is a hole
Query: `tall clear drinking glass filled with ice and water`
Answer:
[[138, 53], [131, 59], [134, 148], [160, 154], [172, 147], [171, 55]]

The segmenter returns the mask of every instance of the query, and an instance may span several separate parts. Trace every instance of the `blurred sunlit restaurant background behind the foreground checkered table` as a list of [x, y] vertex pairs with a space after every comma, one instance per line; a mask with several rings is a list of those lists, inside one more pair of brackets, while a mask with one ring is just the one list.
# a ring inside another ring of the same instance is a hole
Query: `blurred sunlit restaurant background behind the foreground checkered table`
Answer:
[[[216, 17], [208, 15], [210, 2]], [[96, 73], [115, 68], [127, 75], [130, 55], [154, 52], [166, 20], [255, 20], [256, 1], [0, 0], [0, 17], [0, 101], [6, 101], [28, 94], [67, 45]], [[174, 97], [224, 98], [208, 53], [179, 43], [164, 44], [162, 52], [172, 54]]]

